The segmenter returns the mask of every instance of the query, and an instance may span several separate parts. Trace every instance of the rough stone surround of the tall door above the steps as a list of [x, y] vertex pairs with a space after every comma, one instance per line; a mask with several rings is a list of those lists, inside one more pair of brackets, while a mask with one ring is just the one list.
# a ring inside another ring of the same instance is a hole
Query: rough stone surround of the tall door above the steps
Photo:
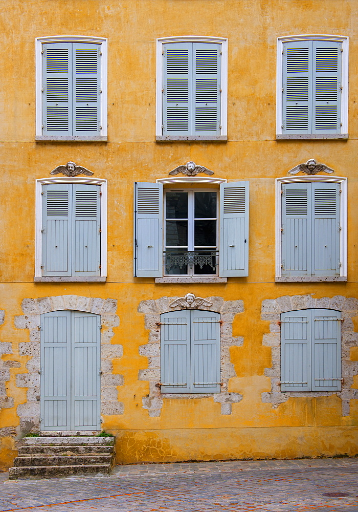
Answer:
[[[51, 311], [75, 310], [101, 316], [101, 415], [124, 413], [122, 402], [118, 401], [117, 386], [123, 386], [123, 375], [113, 373], [113, 359], [122, 357], [123, 346], [112, 344], [113, 327], [119, 326], [116, 315], [117, 300], [113, 298], [84, 297], [79, 295], [57, 295], [40, 298], [24, 298], [21, 303], [24, 315], [14, 317], [15, 327], [29, 329], [29, 341], [19, 343], [19, 354], [29, 356], [26, 364], [28, 373], [16, 375], [16, 387], [28, 388], [27, 402], [17, 406], [20, 425], [17, 434], [23, 436], [30, 430], [39, 430], [40, 420], [40, 315]], [[12, 362], [12, 361], [9, 361]], [[11, 407], [11, 406], [10, 406]]]

